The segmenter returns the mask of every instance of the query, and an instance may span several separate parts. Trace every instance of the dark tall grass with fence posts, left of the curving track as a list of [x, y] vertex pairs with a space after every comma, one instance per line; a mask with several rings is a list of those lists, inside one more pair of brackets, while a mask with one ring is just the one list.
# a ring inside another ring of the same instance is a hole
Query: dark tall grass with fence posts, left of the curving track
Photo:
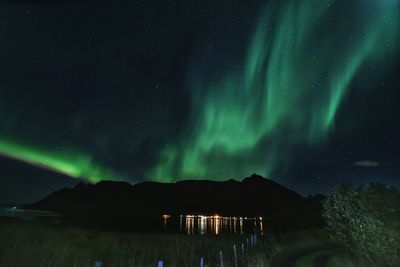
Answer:
[[[248, 236], [187, 236], [131, 234], [57, 227], [35, 222], [0, 221], [0, 266], [217, 266], [219, 251], [225, 266], [269, 266], [262, 242], [247, 247]], [[245, 253], [241, 251], [245, 244]], [[233, 254], [237, 246], [237, 260]]]

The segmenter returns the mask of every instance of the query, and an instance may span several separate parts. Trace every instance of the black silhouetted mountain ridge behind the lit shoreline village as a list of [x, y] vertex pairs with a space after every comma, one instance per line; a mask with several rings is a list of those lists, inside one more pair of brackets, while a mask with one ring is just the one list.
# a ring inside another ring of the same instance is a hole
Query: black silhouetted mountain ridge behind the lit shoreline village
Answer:
[[[62, 189], [29, 206], [85, 222], [129, 227], [139, 218], [162, 214], [265, 216], [271, 222], [310, 217], [315, 203], [282, 185], [253, 174], [242, 182], [187, 180], [176, 183], [102, 181]], [[308, 214], [308, 215], [307, 215]]]

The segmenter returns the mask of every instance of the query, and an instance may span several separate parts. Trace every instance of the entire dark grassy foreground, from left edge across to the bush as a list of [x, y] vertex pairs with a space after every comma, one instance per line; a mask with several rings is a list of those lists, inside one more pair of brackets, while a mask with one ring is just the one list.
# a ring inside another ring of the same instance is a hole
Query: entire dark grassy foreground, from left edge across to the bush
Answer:
[[[146, 267], [157, 266], [157, 261], [163, 260], [166, 267], [191, 267], [200, 266], [200, 257], [204, 257], [205, 266], [211, 267], [219, 266], [222, 251], [225, 267], [268, 267], [285, 266], [285, 260], [291, 258], [297, 262], [303, 257], [302, 261], [307, 262], [307, 253], [312, 256], [338, 247], [323, 230], [267, 234], [249, 248], [248, 237], [134, 234], [0, 218], [0, 266], [93, 267], [101, 261], [102, 267]], [[233, 244], [237, 247], [236, 262]], [[350, 254], [343, 255], [333, 254], [327, 260], [328, 266], [363, 266]]]

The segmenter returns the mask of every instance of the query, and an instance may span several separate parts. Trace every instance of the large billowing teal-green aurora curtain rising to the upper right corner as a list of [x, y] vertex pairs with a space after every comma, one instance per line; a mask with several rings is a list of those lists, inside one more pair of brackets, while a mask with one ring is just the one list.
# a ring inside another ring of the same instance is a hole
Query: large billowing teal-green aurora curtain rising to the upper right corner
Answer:
[[226, 179], [286, 168], [298, 144], [317, 145], [367, 64], [398, 55], [399, 1], [270, 3], [242, 70], [191, 81], [191, 129], [169, 145], [149, 177]]

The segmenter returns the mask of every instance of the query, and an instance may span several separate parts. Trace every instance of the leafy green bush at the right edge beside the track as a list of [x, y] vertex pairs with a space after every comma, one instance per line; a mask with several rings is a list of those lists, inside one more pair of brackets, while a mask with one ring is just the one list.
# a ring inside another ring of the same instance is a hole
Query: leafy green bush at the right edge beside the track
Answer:
[[378, 265], [400, 263], [400, 194], [393, 187], [345, 184], [323, 202], [331, 236]]

